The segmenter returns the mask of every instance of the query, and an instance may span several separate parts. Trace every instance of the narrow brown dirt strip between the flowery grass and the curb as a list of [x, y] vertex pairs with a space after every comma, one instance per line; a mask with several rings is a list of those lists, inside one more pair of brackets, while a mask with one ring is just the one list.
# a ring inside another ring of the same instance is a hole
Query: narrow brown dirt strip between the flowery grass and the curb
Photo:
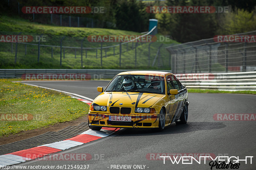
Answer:
[[18, 134], [8, 135], [8, 137], [1, 137], [0, 138], [0, 145], [2, 144], [9, 144], [12, 142], [17, 142], [23, 139], [28, 139], [30, 137], [35, 137], [37, 135], [44, 134], [46, 132], [56, 132], [61, 129], [64, 129], [68, 126], [76, 126], [82, 122], [88, 122], [88, 117], [83, 116], [82, 118], [76, 119], [74, 121], [69, 122], [63, 122], [63, 123], [56, 123], [54, 125], [49, 125], [46, 127], [34, 129], [34, 130], [27, 130], [27, 131], [21, 131]]

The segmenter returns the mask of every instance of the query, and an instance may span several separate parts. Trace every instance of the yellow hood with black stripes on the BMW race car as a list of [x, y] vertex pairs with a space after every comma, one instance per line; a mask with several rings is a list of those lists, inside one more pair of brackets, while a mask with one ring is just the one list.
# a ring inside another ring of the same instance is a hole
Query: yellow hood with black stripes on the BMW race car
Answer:
[[164, 94], [142, 92], [103, 92], [93, 100], [100, 106], [150, 107]]

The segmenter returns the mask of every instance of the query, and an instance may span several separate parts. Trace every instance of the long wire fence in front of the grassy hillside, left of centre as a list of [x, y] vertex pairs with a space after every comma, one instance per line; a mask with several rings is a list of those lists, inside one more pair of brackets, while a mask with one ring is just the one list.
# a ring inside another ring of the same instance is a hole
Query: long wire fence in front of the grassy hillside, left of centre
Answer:
[[[31, 42], [0, 42], [0, 61], [8, 65], [44, 63], [70, 68], [124, 68], [171, 70], [171, 55], [161, 42], [90, 42], [87, 37], [52, 36], [18, 32]], [[6, 68], [6, 67], [5, 67]], [[48, 67], [49, 68], [49, 67]], [[58, 67], [61, 68], [61, 67]]]

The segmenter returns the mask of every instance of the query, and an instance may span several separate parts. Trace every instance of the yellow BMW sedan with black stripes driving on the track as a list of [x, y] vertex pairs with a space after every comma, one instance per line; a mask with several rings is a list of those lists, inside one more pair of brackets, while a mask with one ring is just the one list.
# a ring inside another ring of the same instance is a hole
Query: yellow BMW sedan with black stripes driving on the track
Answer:
[[172, 73], [127, 71], [117, 74], [89, 110], [89, 128], [158, 128], [188, 120], [188, 91]]

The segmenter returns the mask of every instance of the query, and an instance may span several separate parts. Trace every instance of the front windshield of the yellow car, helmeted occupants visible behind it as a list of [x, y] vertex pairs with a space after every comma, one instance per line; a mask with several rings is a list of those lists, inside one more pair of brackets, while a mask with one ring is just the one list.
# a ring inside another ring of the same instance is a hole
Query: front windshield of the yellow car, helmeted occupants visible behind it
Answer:
[[154, 75], [117, 75], [105, 92], [165, 93], [164, 77]]

